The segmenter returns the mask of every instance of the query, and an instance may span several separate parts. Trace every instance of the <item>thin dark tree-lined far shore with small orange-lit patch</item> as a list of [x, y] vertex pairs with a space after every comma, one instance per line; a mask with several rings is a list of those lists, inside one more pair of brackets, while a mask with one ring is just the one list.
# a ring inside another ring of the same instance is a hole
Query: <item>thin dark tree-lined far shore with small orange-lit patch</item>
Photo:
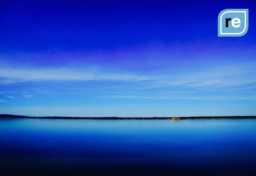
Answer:
[[88, 120], [196, 120], [196, 119], [256, 119], [256, 116], [202, 116], [202, 117], [29, 117], [0, 115], [0, 118], [22, 119], [88, 119]]

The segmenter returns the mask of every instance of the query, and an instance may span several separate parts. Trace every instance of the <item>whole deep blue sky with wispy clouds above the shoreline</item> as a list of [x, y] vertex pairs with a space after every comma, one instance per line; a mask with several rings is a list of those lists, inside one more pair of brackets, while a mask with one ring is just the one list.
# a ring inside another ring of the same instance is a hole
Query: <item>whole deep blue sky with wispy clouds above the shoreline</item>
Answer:
[[[242, 37], [218, 14], [249, 9]], [[1, 1], [0, 114], [252, 116], [252, 1]]]

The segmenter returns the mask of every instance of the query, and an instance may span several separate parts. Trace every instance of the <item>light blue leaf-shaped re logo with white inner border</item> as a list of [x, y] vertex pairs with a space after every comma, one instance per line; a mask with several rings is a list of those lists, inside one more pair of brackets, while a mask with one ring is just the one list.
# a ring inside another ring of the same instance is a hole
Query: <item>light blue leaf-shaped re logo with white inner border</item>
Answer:
[[218, 16], [219, 37], [240, 37], [248, 30], [248, 9], [225, 9]]

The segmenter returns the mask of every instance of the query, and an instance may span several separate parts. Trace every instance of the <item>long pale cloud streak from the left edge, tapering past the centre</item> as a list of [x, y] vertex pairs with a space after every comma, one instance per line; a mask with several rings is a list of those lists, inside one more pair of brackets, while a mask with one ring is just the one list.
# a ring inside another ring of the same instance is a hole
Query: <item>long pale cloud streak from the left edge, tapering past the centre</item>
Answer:
[[149, 76], [138, 76], [133, 74], [110, 74], [96, 71], [76, 71], [77, 69], [0, 69], [2, 84], [11, 84], [27, 81], [142, 81], [149, 80]]

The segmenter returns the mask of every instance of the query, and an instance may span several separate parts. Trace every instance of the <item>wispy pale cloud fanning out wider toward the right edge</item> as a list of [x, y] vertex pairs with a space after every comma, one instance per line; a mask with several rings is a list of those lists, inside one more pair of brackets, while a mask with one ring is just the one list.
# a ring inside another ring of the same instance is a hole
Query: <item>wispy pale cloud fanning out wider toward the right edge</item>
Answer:
[[[219, 67], [212, 70], [183, 74], [177, 76], [163, 76], [156, 80], [156, 84], [149, 86], [177, 86], [184, 88], [197, 88], [203, 90], [240, 87], [240, 90], [254, 89], [256, 84], [256, 67], [252, 65], [240, 65], [233, 67]], [[252, 85], [253, 84], [253, 85]]]

